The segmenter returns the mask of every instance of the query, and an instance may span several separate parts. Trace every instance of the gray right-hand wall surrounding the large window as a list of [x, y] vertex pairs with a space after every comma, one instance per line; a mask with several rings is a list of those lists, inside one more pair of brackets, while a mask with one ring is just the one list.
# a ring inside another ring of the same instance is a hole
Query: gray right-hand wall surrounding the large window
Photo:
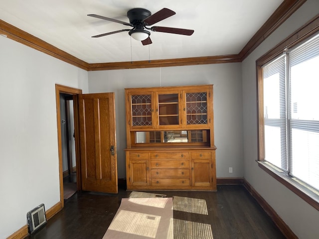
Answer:
[[256, 60], [319, 13], [319, 0], [308, 0], [242, 62], [245, 179], [276, 210], [300, 239], [319, 238], [319, 212], [269, 174], [257, 160]]

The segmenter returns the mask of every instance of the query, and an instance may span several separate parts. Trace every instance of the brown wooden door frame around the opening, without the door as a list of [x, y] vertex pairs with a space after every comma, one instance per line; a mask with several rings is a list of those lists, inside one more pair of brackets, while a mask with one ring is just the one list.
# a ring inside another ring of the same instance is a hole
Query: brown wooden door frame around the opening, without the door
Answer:
[[[64, 207], [63, 198], [63, 163], [62, 163], [62, 135], [61, 135], [61, 114], [60, 114], [60, 93], [73, 95], [74, 108], [74, 130], [75, 130], [75, 160], [76, 160], [76, 182], [77, 190], [81, 190], [81, 165], [80, 165], [80, 147], [79, 147], [79, 112], [77, 95], [82, 94], [82, 89], [72, 88], [55, 84], [55, 100], [56, 100], [56, 120], [57, 120], [57, 136], [58, 136], [58, 154], [59, 154], [59, 182], [60, 182], [60, 204], [61, 209]], [[76, 96], [76, 97], [74, 97]]]

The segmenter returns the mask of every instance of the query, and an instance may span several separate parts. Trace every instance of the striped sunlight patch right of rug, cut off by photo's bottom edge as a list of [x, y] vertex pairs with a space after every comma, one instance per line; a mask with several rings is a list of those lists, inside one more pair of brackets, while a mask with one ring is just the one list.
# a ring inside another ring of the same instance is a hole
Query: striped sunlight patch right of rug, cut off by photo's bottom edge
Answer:
[[211, 226], [174, 219], [174, 239], [213, 239]]

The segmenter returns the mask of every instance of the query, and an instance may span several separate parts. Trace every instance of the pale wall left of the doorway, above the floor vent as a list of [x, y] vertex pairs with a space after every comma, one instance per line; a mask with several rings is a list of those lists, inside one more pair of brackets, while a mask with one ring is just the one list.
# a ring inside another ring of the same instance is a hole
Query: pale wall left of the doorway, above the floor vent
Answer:
[[88, 73], [0, 36], [0, 238], [60, 201], [55, 83], [88, 92]]

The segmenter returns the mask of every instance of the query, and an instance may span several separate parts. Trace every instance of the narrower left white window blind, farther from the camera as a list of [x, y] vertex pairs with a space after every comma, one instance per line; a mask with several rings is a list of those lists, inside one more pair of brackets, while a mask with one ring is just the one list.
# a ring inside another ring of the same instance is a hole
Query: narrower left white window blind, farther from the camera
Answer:
[[287, 171], [286, 56], [264, 67], [265, 160]]

